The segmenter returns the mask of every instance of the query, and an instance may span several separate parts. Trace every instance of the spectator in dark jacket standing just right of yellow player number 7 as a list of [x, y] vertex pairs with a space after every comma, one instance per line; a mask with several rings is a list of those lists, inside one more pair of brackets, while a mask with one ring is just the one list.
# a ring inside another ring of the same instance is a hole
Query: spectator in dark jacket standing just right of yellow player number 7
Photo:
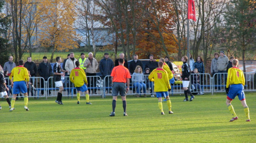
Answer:
[[36, 76], [37, 74], [37, 68], [36, 68], [36, 65], [35, 63], [32, 61], [32, 58], [31, 57], [28, 57], [27, 58], [27, 62], [25, 62], [24, 64], [24, 67], [26, 67], [29, 71], [29, 75], [30, 77], [32, 77], [29, 81], [30, 81], [30, 84], [29, 84], [29, 88], [28, 88], [28, 94], [29, 94], [29, 91], [31, 92], [31, 96], [34, 96], [34, 92], [33, 90], [30, 90], [31, 89], [31, 86], [33, 87], [34, 86], [34, 82], [35, 82], [35, 79], [34, 77]]

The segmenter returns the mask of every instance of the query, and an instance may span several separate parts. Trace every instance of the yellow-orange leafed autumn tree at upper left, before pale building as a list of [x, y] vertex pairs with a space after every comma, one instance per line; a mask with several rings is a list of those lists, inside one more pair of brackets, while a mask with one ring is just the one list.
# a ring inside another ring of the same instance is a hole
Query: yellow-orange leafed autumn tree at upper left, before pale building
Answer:
[[78, 47], [74, 25], [74, 8], [71, 0], [40, 0], [38, 6], [45, 8], [42, 12], [44, 21], [40, 25], [41, 46], [51, 47], [53, 56], [56, 51], [68, 51]]

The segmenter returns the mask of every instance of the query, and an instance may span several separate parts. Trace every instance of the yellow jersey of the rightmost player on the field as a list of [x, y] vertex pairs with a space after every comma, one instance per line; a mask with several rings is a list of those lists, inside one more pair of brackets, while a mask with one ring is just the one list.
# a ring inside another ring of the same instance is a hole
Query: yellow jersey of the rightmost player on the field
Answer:
[[227, 85], [228, 88], [231, 84], [243, 84], [245, 85], [244, 73], [238, 67], [229, 68], [227, 71]]

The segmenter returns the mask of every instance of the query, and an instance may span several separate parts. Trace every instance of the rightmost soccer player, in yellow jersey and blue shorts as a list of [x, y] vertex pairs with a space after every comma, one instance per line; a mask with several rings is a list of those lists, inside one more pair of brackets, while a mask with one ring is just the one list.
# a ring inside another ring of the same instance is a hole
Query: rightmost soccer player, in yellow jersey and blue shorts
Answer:
[[241, 69], [238, 68], [238, 59], [232, 60], [232, 66], [233, 66], [232, 68], [228, 69], [227, 84], [226, 84], [226, 88], [228, 92], [226, 105], [230, 113], [233, 115], [232, 119], [229, 122], [238, 120], [238, 116], [234, 112], [234, 108], [231, 105], [231, 101], [236, 96], [238, 96], [238, 99], [241, 101], [242, 105], [244, 106], [244, 112], [247, 117], [246, 122], [250, 122], [249, 108], [246, 104], [245, 94], [244, 94], [244, 84], [245, 84], [244, 73]]

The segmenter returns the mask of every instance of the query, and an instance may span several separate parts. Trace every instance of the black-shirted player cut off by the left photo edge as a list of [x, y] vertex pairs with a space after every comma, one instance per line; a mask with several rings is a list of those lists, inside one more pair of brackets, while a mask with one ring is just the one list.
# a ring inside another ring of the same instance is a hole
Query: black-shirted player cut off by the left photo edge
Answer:
[[[9, 91], [9, 88], [6, 86], [6, 80], [5, 77], [2, 73], [0, 73], [0, 80], [1, 80], [1, 85], [0, 85], [0, 98], [5, 97], [7, 103], [9, 104], [9, 108], [11, 109], [11, 102], [10, 99], [8, 97], [8, 94], [6, 92]], [[0, 105], [0, 110], [2, 109], [1, 105]]]

